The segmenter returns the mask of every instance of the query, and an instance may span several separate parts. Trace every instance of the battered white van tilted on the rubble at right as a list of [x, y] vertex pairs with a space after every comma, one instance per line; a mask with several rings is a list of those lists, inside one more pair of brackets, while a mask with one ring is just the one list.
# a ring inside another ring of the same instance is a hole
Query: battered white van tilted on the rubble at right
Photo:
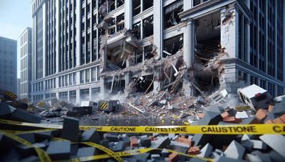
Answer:
[[249, 105], [255, 111], [258, 109], [267, 109], [269, 104], [273, 104], [273, 99], [269, 92], [257, 85], [239, 88], [237, 94], [244, 104]]

